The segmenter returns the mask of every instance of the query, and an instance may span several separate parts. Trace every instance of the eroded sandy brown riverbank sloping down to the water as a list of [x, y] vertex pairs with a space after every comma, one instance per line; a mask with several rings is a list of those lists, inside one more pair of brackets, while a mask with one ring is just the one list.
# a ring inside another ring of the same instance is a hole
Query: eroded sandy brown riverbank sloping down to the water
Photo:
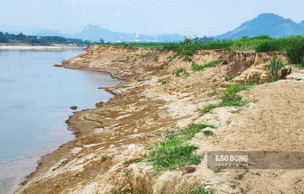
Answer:
[[[220, 192], [300, 193], [304, 185], [297, 181], [302, 179], [302, 169], [222, 169], [217, 173], [207, 167], [204, 157], [197, 165], [155, 174], [151, 163], [145, 162], [150, 152], [147, 148], [163, 140], [166, 131], [191, 123], [216, 126], [210, 128], [213, 136], [199, 132], [188, 141], [199, 145], [197, 154], [303, 151], [304, 72], [288, 67], [284, 79], [264, 83], [263, 67], [271, 55], [235, 52], [231, 56], [224, 49], [195, 51], [191, 60], [197, 64], [223, 60], [215, 67], [193, 71], [192, 63], [177, 51], [94, 45], [62, 61], [65, 68], [108, 71], [124, 81], [107, 88], [116, 94], [107, 103], [77, 111], [69, 118], [69, 126], [77, 129], [76, 139], [44, 156], [40, 168], [16, 193], [103, 194], [122, 188], [132, 194], [169, 194], [193, 187], [197, 181], [212, 187], [219, 184]], [[179, 68], [183, 69], [177, 73]], [[226, 77], [234, 78], [225, 81]], [[230, 82], [249, 79], [259, 85], [239, 93], [250, 101], [247, 106], [219, 107], [201, 114]], [[231, 187], [232, 181], [237, 181], [235, 187]]]

